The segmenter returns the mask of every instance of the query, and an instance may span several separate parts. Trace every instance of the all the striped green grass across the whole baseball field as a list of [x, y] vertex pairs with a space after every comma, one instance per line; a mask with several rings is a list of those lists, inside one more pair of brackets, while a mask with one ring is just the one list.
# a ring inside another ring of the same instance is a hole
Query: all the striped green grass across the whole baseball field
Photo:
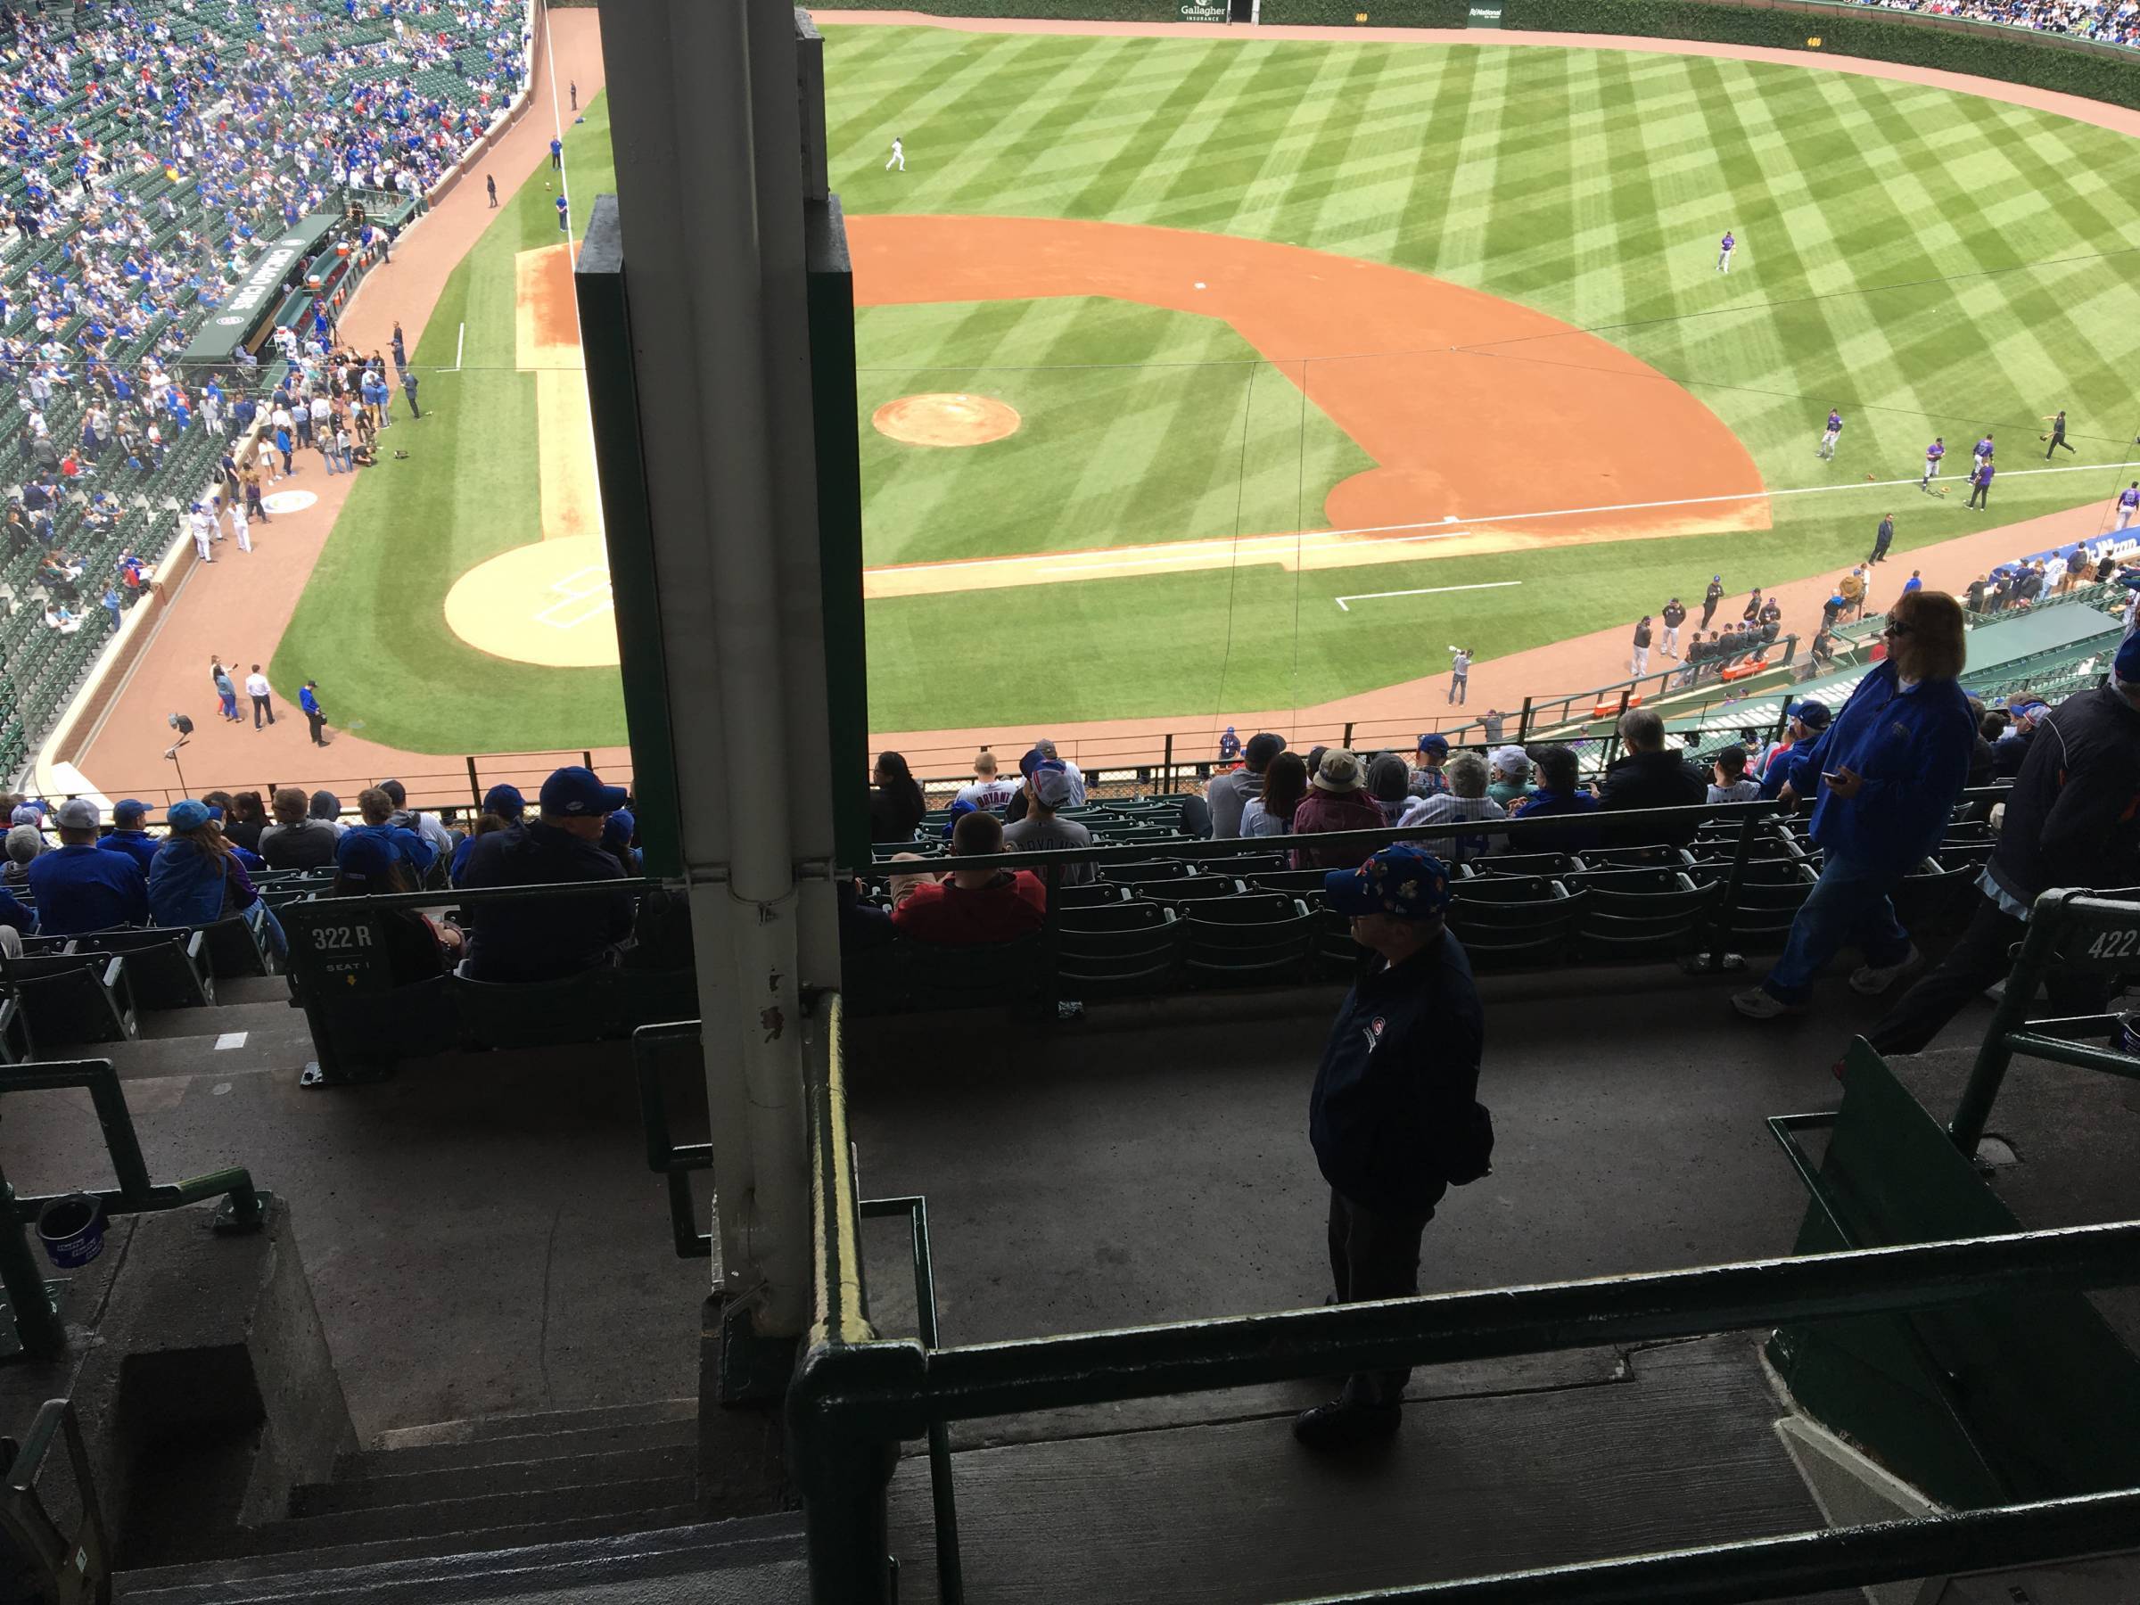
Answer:
[[[824, 21], [850, 216], [1104, 218], [1436, 274], [1603, 334], [1703, 400], [1772, 490], [1821, 488], [1778, 499], [1761, 535], [877, 601], [882, 730], [1320, 702], [1434, 672], [1451, 640], [1513, 653], [1699, 595], [1716, 571], [1742, 591], [1834, 569], [1887, 507], [1907, 552], [1986, 524], [1960, 496], [1864, 486], [1915, 473], [1932, 434], [1967, 447], [1997, 428], [1997, 522], [2134, 477], [2116, 464], [2140, 430], [2140, 143], [2119, 135], [1817, 66]], [[606, 186], [603, 116], [597, 103], [571, 135], [582, 195]], [[884, 171], [895, 133], [903, 173]], [[614, 674], [484, 659], [439, 614], [458, 574], [533, 531], [526, 381], [494, 370], [511, 362], [511, 255], [554, 240], [541, 178], [529, 188], [456, 272], [417, 353], [449, 364], [467, 319], [471, 372], [426, 381], [441, 417], [415, 426], [424, 454], [357, 488], [276, 657], [280, 678], [364, 666], [332, 698], [338, 715], [424, 751], [623, 734]], [[1714, 272], [1727, 227], [1729, 278]], [[1102, 300], [869, 308], [858, 347], [873, 563], [1316, 524], [1323, 490], [1359, 467], [1275, 370], [1243, 368], [1252, 387], [1228, 377], [1245, 347], [1220, 323]], [[1406, 357], [1427, 387], [1440, 362], [1487, 360], [1511, 387], [1558, 377], [1552, 340]], [[1004, 394], [1027, 426], [965, 452], [895, 447], [869, 411], [916, 389]], [[1815, 441], [1832, 402], [1849, 428], [1830, 464]], [[2059, 407], [2086, 471], [2012, 473], [2039, 467], [2039, 417]], [[1331, 603], [1494, 580], [1522, 584]], [[965, 668], [976, 640], [1002, 644], [982, 674]]]

